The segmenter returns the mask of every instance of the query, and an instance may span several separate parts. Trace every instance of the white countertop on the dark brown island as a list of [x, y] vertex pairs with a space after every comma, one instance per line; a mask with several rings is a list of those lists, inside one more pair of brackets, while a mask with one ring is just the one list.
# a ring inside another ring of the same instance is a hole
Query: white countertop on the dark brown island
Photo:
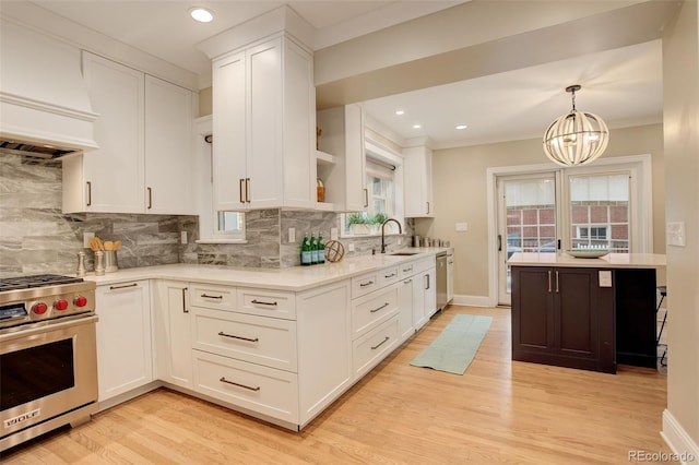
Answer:
[[599, 259], [577, 259], [566, 252], [517, 252], [508, 263], [513, 266], [570, 266], [603, 269], [661, 269], [665, 255], [660, 253], [609, 253]]

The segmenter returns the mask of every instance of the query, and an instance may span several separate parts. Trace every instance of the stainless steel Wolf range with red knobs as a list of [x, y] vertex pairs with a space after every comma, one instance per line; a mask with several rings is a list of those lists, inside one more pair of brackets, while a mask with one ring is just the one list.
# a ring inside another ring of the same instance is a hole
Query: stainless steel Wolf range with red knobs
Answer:
[[0, 451], [97, 412], [95, 283], [0, 278]]

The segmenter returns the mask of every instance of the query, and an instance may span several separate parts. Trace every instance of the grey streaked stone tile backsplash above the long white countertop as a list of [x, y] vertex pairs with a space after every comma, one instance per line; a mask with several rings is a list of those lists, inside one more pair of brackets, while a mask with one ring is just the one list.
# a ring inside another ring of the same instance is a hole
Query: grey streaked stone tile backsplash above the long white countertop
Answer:
[[[245, 245], [197, 243], [199, 218], [145, 214], [61, 213], [61, 162], [0, 155], [0, 277], [56, 273], [72, 274], [76, 253], [87, 251], [87, 270], [93, 255], [83, 248], [84, 233], [103, 240], [121, 240], [119, 267], [170, 263], [201, 263], [226, 266], [288, 267], [299, 265], [304, 233], [322, 233], [339, 227], [340, 215], [331, 212], [262, 210], [246, 213]], [[403, 243], [413, 234], [406, 222]], [[288, 228], [296, 241], [288, 242]], [[180, 245], [187, 231], [188, 243]], [[398, 236], [387, 238], [395, 247]], [[345, 250], [369, 254], [378, 250], [380, 237], [341, 239]]]

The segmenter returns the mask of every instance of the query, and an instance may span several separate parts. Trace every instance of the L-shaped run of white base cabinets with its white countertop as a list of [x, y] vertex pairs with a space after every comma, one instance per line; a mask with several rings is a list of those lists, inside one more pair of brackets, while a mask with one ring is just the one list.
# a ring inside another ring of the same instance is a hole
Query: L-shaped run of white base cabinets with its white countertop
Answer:
[[446, 250], [86, 276], [97, 285], [99, 408], [166, 385], [300, 430], [429, 321]]

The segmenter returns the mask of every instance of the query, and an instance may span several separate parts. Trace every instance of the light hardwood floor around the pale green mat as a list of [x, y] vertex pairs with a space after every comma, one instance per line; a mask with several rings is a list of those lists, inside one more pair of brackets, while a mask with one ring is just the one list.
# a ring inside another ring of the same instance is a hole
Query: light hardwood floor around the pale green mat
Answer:
[[[457, 313], [494, 318], [463, 375], [410, 366]], [[624, 464], [663, 443], [666, 380], [510, 360], [509, 309], [448, 307], [300, 433], [168, 390], [2, 464]], [[656, 462], [660, 463], [660, 462]]]

